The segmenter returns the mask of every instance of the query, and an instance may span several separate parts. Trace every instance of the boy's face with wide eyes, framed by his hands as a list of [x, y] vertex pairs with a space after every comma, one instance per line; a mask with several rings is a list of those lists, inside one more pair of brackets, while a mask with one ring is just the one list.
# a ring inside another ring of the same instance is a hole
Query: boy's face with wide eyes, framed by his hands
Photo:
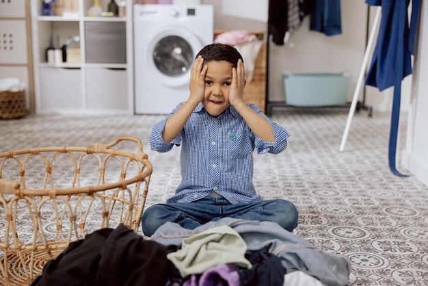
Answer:
[[219, 116], [230, 106], [229, 92], [233, 65], [226, 61], [210, 61], [204, 64], [208, 69], [202, 104], [211, 116]]

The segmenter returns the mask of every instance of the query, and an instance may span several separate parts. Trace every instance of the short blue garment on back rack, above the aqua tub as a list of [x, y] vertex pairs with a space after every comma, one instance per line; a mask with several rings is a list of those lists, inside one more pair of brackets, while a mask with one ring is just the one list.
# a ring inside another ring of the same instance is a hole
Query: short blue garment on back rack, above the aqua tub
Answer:
[[317, 0], [312, 3], [309, 29], [327, 36], [342, 34], [340, 0]]

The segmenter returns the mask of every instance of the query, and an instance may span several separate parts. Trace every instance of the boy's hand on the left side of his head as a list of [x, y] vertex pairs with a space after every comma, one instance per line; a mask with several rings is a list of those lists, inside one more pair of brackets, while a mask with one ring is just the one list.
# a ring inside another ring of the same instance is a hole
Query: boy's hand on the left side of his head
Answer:
[[207, 68], [208, 67], [206, 65], [204, 66], [204, 59], [201, 56], [198, 56], [195, 62], [193, 62], [190, 70], [189, 100], [194, 100], [200, 103], [204, 99], [205, 75]]

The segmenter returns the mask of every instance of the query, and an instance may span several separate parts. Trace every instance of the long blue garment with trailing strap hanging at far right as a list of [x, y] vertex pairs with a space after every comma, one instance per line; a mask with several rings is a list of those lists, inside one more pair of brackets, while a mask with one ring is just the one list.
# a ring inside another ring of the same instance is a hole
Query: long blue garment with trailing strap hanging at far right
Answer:
[[390, 138], [388, 146], [388, 163], [393, 174], [405, 177], [397, 170], [395, 158], [397, 153], [397, 134], [399, 128], [401, 81], [412, 73], [414, 38], [418, 23], [420, 0], [412, 1], [412, 18], [409, 27], [407, 8], [410, 0], [366, 0], [368, 5], [382, 6], [382, 18], [379, 33], [366, 85], [379, 88], [379, 91], [394, 87]]

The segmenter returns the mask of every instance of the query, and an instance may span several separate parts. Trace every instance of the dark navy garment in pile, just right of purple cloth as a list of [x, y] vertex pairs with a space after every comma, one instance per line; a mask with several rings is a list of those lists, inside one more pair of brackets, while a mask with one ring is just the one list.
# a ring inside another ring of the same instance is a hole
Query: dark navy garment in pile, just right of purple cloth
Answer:
[[258, 251], [245, 255], [252, 268], [238, 270], [241, 286], [282, 286], [286, 270], [281, 259], [271, 252]]

